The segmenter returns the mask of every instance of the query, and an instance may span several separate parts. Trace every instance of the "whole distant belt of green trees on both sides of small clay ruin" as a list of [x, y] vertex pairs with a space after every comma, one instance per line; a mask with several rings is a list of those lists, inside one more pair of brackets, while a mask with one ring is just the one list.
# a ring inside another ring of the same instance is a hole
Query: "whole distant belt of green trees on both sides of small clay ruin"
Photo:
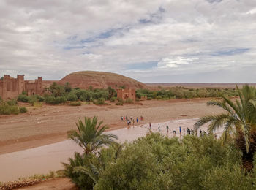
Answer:
[[[124, 88], [121, 86], [120, 88]], [[110, 102], [116, 102], [117, 105], [124, 103], [132, 103], [129, 99], [128, 102], [122, 102], [116, 98], [116, 90], [111, 88], [93, 88], [80, 89], [72, 88], [69, 83], [64, 86], [60, 86], [57, 83], [53, 83], [49, 88], [46, 88], [44, 96], [33, 95], [26, 96], [20, 94], [18, 101], [29, 102], [45, 102], [47, 104], [64, 104], [66, 102], [93, 102], [94, 104], [105, 104], [106, 100]], [[220, 94], [226, 96], [238, 96], [235, 88], [184, 88], [181, 86], [172, 87], [169, 89], [159, 88], [158, 91], [151, 91], [146, 88], [140, 88], [136, 91], [136, 101], [139, 101], [143, 96], [151, 99], [184, 99], [184, 98], [203, 98], [203, 97], [219, 97]], [[118, 100], [118, 101], [116, 101]]]

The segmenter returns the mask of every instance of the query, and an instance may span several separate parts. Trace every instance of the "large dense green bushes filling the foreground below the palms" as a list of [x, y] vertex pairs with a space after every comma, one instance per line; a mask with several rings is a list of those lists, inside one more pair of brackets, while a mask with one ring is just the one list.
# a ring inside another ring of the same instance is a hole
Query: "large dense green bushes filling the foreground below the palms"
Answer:
[[75, 153], [66, 164], [80, 189], [255, 189], [241, 152], [211, 135], [163, 137], [159, 133], [99, 153]]

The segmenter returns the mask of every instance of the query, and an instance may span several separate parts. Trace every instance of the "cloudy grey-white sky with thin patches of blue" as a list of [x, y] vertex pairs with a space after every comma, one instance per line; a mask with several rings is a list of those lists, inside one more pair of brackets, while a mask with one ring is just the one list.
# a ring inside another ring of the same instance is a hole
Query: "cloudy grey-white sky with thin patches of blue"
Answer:
[[0, 75], [256, 82], [255, 0], [1, 0]]

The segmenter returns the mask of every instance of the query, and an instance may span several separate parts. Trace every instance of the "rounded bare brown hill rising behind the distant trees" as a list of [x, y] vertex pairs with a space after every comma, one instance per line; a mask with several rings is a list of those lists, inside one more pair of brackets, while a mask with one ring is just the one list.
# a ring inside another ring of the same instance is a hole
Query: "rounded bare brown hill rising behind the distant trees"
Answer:
[[115, 88], [116, 86], [126, 86], [127, 88], [147, 88], [143, 83], [138, 82], [129, 77], [124, 77], [123, 75], [118, 75], [112, 72], [94, 72], [94, 71], [82, 71], [82, 72], [72, 72], [66, 77], [59, 80], [60, 85], [65, 83], [70, 83], [73, 88], [89, 88], [93, 86], [94, 88], [106, 88], [111, 86]]

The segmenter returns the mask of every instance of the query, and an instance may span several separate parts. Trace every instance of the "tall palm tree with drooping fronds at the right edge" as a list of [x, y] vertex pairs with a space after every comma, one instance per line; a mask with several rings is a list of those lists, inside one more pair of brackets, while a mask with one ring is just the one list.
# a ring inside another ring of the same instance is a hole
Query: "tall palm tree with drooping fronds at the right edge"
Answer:
[[239, 99], [234, 102], [221, 94], [222, 100], [212, 100], [207, 105], [218, 106], [225, 110], [218, 115], [207, 115], [195, 123], [195, 130], [203, 124], [208, 125], [208, 132], [224, 128], [223, 142], [235, 140], [241, 149], [243, 165], [246, 171], [252, 170], [253, 154], [256, 151], [256, 89], [245, 85], [240, 90], [236, 86]]

